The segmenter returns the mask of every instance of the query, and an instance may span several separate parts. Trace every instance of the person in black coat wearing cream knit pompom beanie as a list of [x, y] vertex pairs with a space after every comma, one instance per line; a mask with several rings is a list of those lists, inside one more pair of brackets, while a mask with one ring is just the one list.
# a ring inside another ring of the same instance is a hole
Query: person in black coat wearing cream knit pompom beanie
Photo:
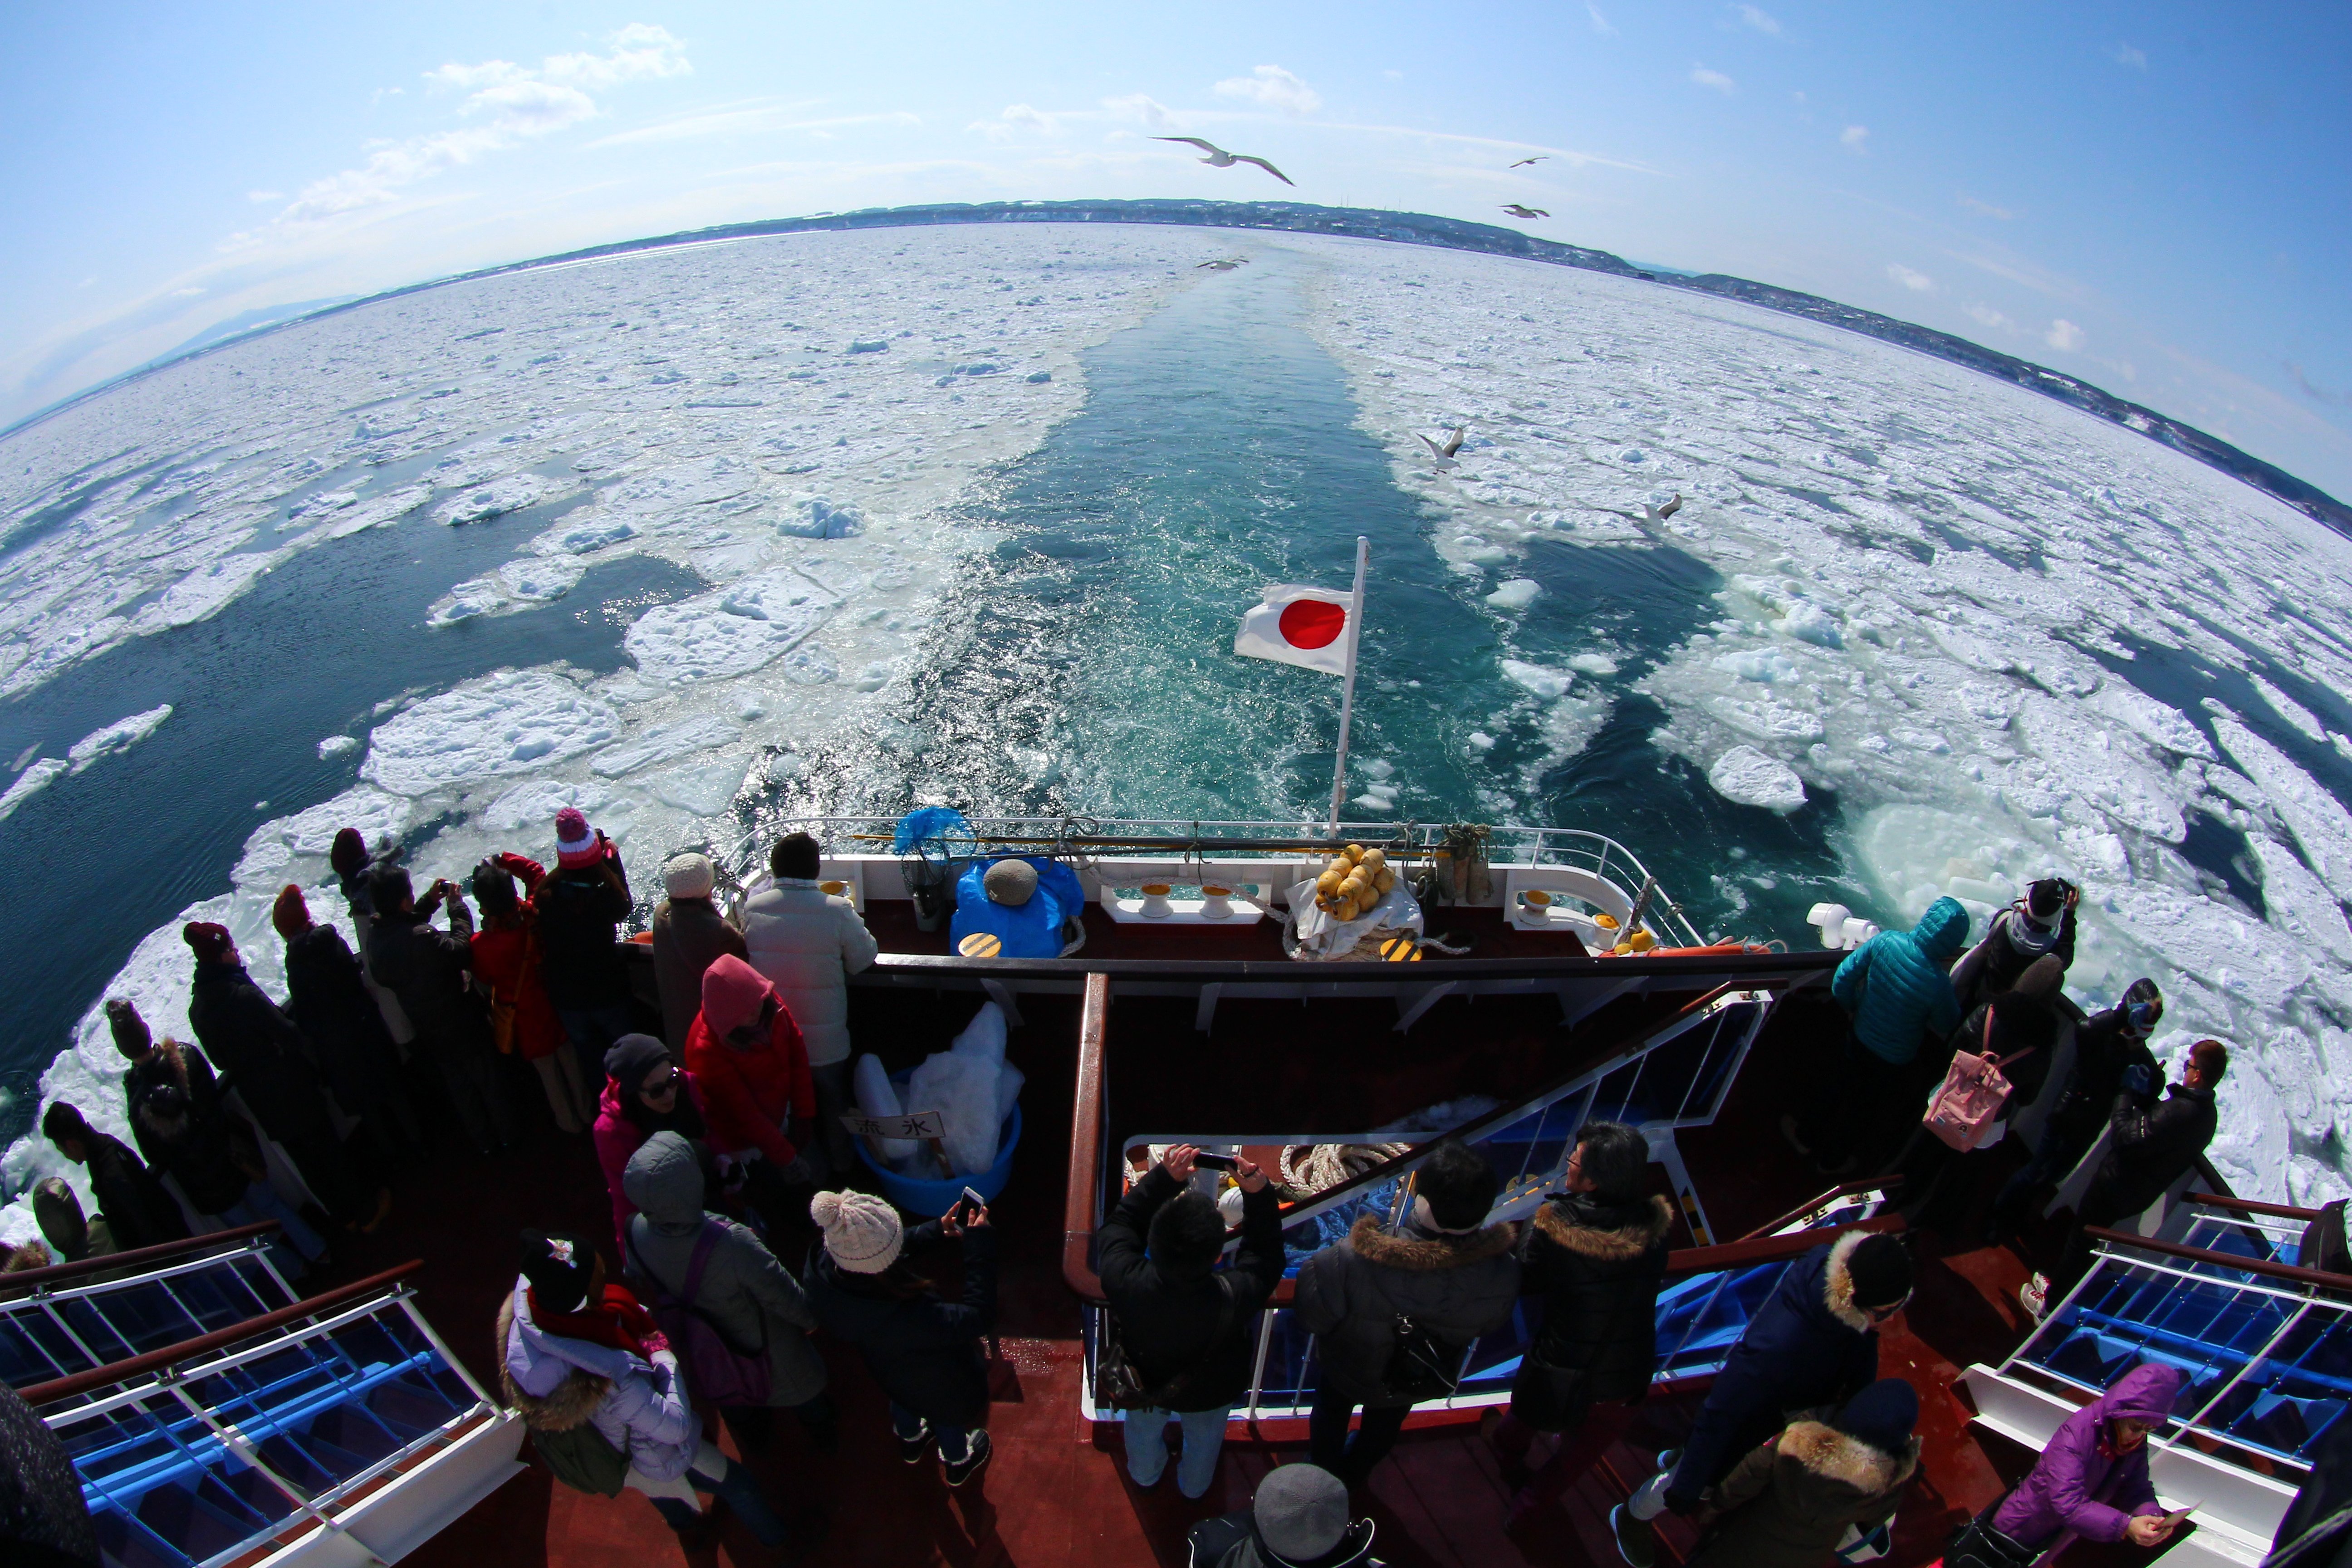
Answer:
[[[962, 1486], [988, 1462], [981, 1335], [997, 1319], [997, 1232], [988, 1211], [976, 1208], [957, 1222], [950, 1208], [908, 1232], [889, 1199], [818, 1192], [809, 1218], [826, 1232], [807, 1279], [816, 1324], [854, 1345], [882, 1385], [898, 1458], [922, 1465], [936, 1436], [948, 1486]], [[903, 1255], [920, 1255], [943, 1239], [964, 1248], [960, 1302], [941, 1295]]]

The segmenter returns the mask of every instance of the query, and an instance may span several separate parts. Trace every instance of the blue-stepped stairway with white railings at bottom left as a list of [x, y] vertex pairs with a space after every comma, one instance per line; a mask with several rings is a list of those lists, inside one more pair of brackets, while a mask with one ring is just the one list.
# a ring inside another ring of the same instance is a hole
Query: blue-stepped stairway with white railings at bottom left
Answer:
[[513, 1476], [520, 1420], [405, 1284], [296, 1298], [273, 1225], [12, 1274], [9, 1382], [82, 1479], [103, 1568], [393, 1563]]

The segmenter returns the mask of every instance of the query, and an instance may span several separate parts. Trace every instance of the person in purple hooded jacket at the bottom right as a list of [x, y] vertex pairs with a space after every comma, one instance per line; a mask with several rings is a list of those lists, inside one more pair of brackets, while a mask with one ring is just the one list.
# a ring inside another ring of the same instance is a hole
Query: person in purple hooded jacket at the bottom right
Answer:
[[2074, 1410], [2032, 1474], [1992, 1509], [1992, 1528], [2049, 1561], [2074, 1540], [2159, 1547], [2178, 1521], [2147, 1479], [2147, 1434], [2171, 1415], [2180, 1368], [2150, 1361]]

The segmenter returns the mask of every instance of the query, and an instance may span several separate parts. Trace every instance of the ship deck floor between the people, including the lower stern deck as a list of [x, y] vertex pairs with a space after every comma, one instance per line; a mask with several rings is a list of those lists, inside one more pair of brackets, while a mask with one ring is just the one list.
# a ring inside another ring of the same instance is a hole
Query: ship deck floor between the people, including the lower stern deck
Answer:
[[[1084, 959], [1145, 957], [1134, 929], [1089, 912]], [[906, 905], [877, 905], [873, 926], [887, 950], [943, 952], [946, 938], [917, 933]], [[1432, 931], [1470, 931], [1477, 957], [1559, 954], [1557, 938], [1510, 931], [1498, 912], [1446, 910]], [[1150, 957], [1277, 957], [1272, 926], [1152, 929]], [[1171, 952], [1174, 950], [1174, 952]], [[1442, 964], [1432, 961], [1430, 969]], [[858, 1037], [927, 1041], [908, 1058], [938, 1048], [976, 1009], [971, 992], [915, 987], [854, 990]], [[1150, 1105], [1150, 1126], [1112, 1105], [1112, 1145], [1136, 1131], [1237, 1126], [1268, 1117], [1249, 1107], [1315, 1107], [1312, 1124], [1289, 1114], [1282, 1126], [1362, 1131], [1454, 1093], [1512, 1086], [1545, 1065], [1559, 1039], [1550, 997], [1449, 997], [1392, 1034], [1381, 1018], [1367, 1030], [1338, 1004], [1228, 1001], [1216, 1030], [1197, 1034], [1190, 1006], [1152, 999], [1117, 1009], [1124, 1105]], [[1682, 1150], [1719, 1237], [1740, 1237], [1813, 1197], [1828, 1182], [1788, 1150], [1776, 1121], [1809, 1088], [1809, 1044], [1830, 1020], [1820, 992], [1795, 994], [1748, 1058], [1715, 1126], [1682, 1135]], [[833, 1533], [809, 1563], [953, 1563], [955, 1568], [1061, 1568], [1077, 1563], [1185, 1561], [1185, 1530], [1204, 1516], [1247, 1507], [1256, 1481], [1275, 1465], [1303, 1458], [1303, 1422], [1232, 1427], [1225, 1462], [1200, 1502], [1174, 1481], [1138, 1490], [1127, 1481], [1120, 1434], [1080, 1418], [1080, 1305], [1061, 1276], [1063, 1185], [1075, 1100], [1080, 999], [1028, 994], [1025, 1025], [1011, 1032], [1009, 1058], [1028, 1074], [1025, 1135], [1011, 1185], [995, 1204], [1002, 1248], [1000, 1359], [993, 1366], [988, 1427], [995, 1458], [981, 1481], [950, 1490], [938, 1465], [896, 1462], [880, 1392], [854, 1354], [828, 1347], [833, 1394], [842, 1410], [835, 1453], [814, 1453], [793, 1422], [779, 1422], [769, 1446], [748, 1458], [788, 1519], [823, 1507]], [[889, 1051], [884, 1051], [889, 1056]], [[1148, 1093], [1136, 1093], [1136, 1084]], [[517, 1105], [539, 1110], [536, 1086], [515, 1081]], [[527, 1098], [524, 1098], [527, 1093]], [[395, 1178], [393, 1218], [372, 1237], [339, 1248], [329, 1284], [409, 1258], [423, 1258], [421, 1307], [485, 1382], [494, 1380], [492, 1316], [513, 1279], [510, 1246], [520, 1227], [579, 1229], [607, 1237], [612, 1211], [588, 1138], [564, 1138], [543, 1114], [529, 1117], [522, 1152], [492, 1161], [435, 1161]], [[814, 1237], [788, 1239], [788, 1265]], [[1691, 1239], [1677, 1237], [1679, 1246]], [[1969, 1361], [1997, 1359], [2023, 1333], [2013, 1291], [2025, 1265], [2009, 1251], [1940, 1253], [1922, 1239], [1922, 1288], [1891, 1326], [1882, 1363], [1919, 1385], [1926, 1439], [1922, 1479], [1903, 1509], [1893, 1568], [1929, 1563], [1952, 1526], [2023, 1474], [2030, 1455], [1999, 1439], [1978, 1441], [1952, 1382]], [[1371, 1479], [1362, 1505], [1378, 1521], [1378, 1556], [1399, 1566], [1616, 1563], [1606, 1512], [1625, 1486], [1646, 1474], [1646, 1458], [1672, 1441], [1700, 1389], [1661, 1389], [1625, 1439], [1576, 1486], [1505, 1528], [1510, 1488], [1494, 1450], [1468, 1413], [1416, 1418], [1395, 1458]], [[717, 1422], [713, 1422], [717, 1434]], [[734, 1439], [720, 1434], [736, 1453]], [[1550, 1439], [1536, 1446], [1541, 1462]], [[1679, 1556], [1684, 1540], [1668, 1537]], [[480, 1561], [555, 1563], [560, 1568], [642, 1568], [675, 1561], [677, 1544], [642, 1500], [586, 1497], [555, 1486], [541, 1467], [508, 1481], [407, 1561], [459, 1568]], [[769, 1556], [729, 1526], [713, 1561], [764, 1563]], [[2074, 1561], [2074, 1559], [2070, 1559]], [[2091, 1559], [2082, 1559], [2091, 1561]]]

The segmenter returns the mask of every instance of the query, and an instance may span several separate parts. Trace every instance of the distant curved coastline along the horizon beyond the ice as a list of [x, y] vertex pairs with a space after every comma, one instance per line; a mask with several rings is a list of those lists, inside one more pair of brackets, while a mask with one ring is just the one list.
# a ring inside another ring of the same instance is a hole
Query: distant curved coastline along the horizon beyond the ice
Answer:
[[675, 235], [654, 235], [644, 240], [621, 240], [614, 244], [593, 244], [588, 249], [562, 252], [557, 256], [536, 256], [532, 261], [510, 261], [503, 266], [480, 268], [473, 273], [459, 273], [452, 277], [435, 277], [430, 282], [416, 282], [400, 289], [386, 289], [383, 294], [369, 294], [353, 301], [334, 303], [325, 310], [310, 310], [303, 315], [292, 315], [275, 322], [254, 324], [247, 331], [235, 331], [233, 336], [221, 336], [216, 341], [195, 339], [191, 346], [151, 360], [132, 371], [101, 381], [99, 386], [75, 393], [61, 402], [28, 414], [16, 423], [0, 430], [0, 440], [38, 425], [66, 409], [73, 409], [92, 397], [99, 397], [118, 386], [151, 376], [158, 369], [193, 360], [198, 355], [228, 348], [230, 343], [247, 343], [252, 339], [294, 327], [301, 322], [315, 322], [327, 315], [339, 315], [343, 310], [358, 310], [383, 299], [400, 299], [405, 294], [419, 294], [423, 289], [440, 289], [454, 282], [473, 282], [477, 277], [499, 277], [503, 273], [527, 273], [541, 266], [560, 266], [567, 261], [593, 261], [597, 256], [626, 256], [630, 252], [654, 252], [675, 249], [680, 244], [708, 244], [715, 240], [748, 240], [757, 235], [797, 235], [797, 233], [821, 233], [821, 230], [849, 230], [849, 228], [924, 228], [936, 223], [1176, 223], [1195, 228], [1270, 228], [1282, 233], [1303, 235], [1348, 235], [1357, 240], [1390, 240], [1397, 244], [1435, 244], [1442, 249], [1477, 252], [1486, 256], [1517, 256], [1522, 261], [1545, 261], [1550, 266], [1571, 266], [1588, 273], [1613, 273], [1618, 277], [1639, 277], [1644, 282], [1656, 282], [1668, 289], [1689, 289], [1696, 294], [1719, 294], [1724, 299], [1738, 299], [1750, 306], [1764, 306], [1766, 310], [1780, 310], [1785, 315], [1802, 315], [1813, 322], [1830, 327], [1844, 327], [1846, 331], [1860, 331], [1863, 336], [1882, 339], [1886, 343], [1900, 343], [1903, 348], [1917, 348], [1919, 353], [1936, 355], [1938, 360], [1950, 360], [1952, 364], [1964, 364], [1966, 369], [1983, 371], [2011, 386], [2020, 386], [2044, 397], [2056, 397], [2058, 402], [2072, 404], [2086, 414], [2096, 414], [2114, 425], [2136, 430], [2152, 442], [2171, 447], [2185, 456], [2218, 468], [2220, 473], [2251, 484], [2253, 489], [2284, 501], [2305, 517], [2321, 522], [2338, 534], [2352, 536], [2352, 505], [2345, 505], [2336, 496], [2326, 494], [2317, 484], [2307, 484], [2296, 475], [2265, 463], [2263, 458], [2239, 451], [2230, 442], [2206, 435], [2194, 425], [2185, 425], [2178, 418], [2157, 414], [2154, 409], [2140, 407], [2114, 397], [2112, 393], [2065, 376], [2060, 371], [2046, 369], [2030, 360], [2018, 360], [2016, 355], [2004, 355], [1983, 343], [1971, 343], [1969, 339], [1952, 336], [1950, 331], [1936, 331], [1931, 327], [1919, 327], [1915, 322], [1903, 322], [1891, 315], [1879, 315], [1875, 310], [1856, 310], [1853, 306], [1842, 306], [1832, 299], [1820, 299], [1818, 294], [1799, 294], [1797, 289], [1778, 289], [1766, 282], [1755, 282], [1748, 277], [1729, 277], [1724, 273], [1672, 273], [1665, 268], [1649, 270], [1639, 268], [1609, 252], [1588, 249], [1583, 244], [1562, 244], [1557, 240], [1536, 240], [1534, 235], [1522, 235], [1512, 228], [1498, 228], [1494, 223], [1465, 223], [1461, 219], [1437, 219], [1421, 212], [1378, 212], [1371, 207], [1310, 207], [1305, 202], [1171, 202], [1171, 200], [1143, 200], [1143, 202], [938, 202], [927, 207], [870, 207], [866, 212], [828, 212], [807, 219], [764, 219], [757, 223], [722, 223], [717, 228], [694, 228]]

